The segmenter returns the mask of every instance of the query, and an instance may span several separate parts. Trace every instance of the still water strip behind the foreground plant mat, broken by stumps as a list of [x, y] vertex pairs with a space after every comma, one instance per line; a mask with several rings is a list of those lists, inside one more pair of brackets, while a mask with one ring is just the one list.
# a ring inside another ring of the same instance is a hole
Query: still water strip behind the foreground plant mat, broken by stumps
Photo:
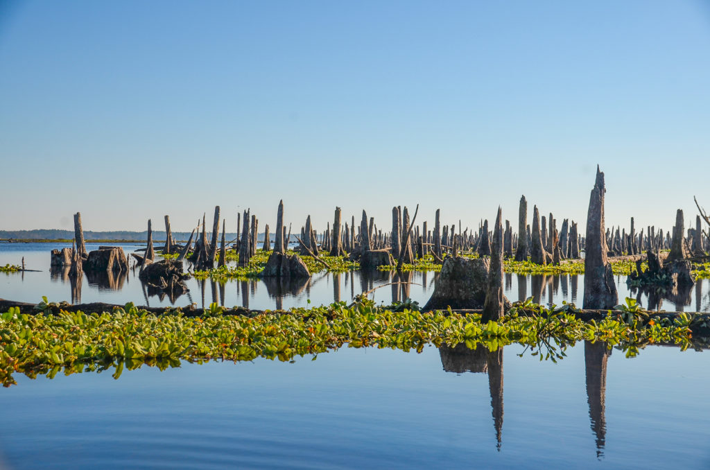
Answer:
[[[50, 273], [50, 251], [64, 248], [67, 244], [7, 244], [0, 243], [0, 265], [20, 264], [25, 258], [28, 269], [39, 273], [0, 274], [0, 297], [22, 302], [39, 302], [43, 295], [51, 301], [62, 300], [74, 303], [107, 302], [136, 305], [178, 305], [195, 302], [209, 306], [211, 302], [231, 307], [241, 305], [257, 310], [273, 308], [304, 307], [329, 304], [334, 301], [350, 301], [354, 295], [373, 290], [370, 294], [377, 302], [389, 304], [394, 300], [411, 298], [424, 305], [431, 296], [438, 277], [437, 273], [405, 273], [399, 277], [391, 272], [376, 272], [365, 275], [351, 273], [313, 275], [310, 280], [283, 285], [275, 280], [229, 281], [226, 284], [209, 280], [187, 280], [190, 293], [171, 301], [170, 298], [148, 295], [138, 280], [138, 272], [116, 276], [84, 273], [79, 283], [72, 283], [67, 270]], [[97, 249], [99, 244], [88, 244], [87, 249]], [[121, 245], [126, 253], [141, 248], [138, 245]], [[626, 276], [616, 276], [619, 299], [635, 297], [648, 307], [648, 295], [631, 293], [626, 286]], [[391, 283], [401, 283], [388, 285]], [[515, 275], [504, 278], [505, 295], [510, 300], [525, 300], [532, 296], [536, 302], [561, 305], [563, 300], [581, 306], [584, 294], [584, 275]], [[652, 302], [652, 308], [655, 308]], [[679, 293], [674, 298], [661, 300], [660, 309], [688, 312], [710, 311], [710, 280], [699, 280], [692, 290]]]

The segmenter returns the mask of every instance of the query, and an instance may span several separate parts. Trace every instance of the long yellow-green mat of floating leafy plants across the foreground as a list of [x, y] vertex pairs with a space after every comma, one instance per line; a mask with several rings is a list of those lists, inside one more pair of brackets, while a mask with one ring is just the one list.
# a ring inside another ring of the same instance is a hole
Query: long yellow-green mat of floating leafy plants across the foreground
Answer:
[[[46, 301], [42, 305], [47, 305]], [[0, 315], [0, 383], [10, 386], [15, 373], [34, 378], [124, 368], [143, 364], [179, 366], [180, 361], [251, 361], [258, 357], [291, 361], [342, 346], [422, 351], [425, 345], [469, 348], [483, 344], [490, 350], [506, 344], [528, 346], [531, 354], [555, 361], [577, 341], [606, 341], [610, 347], [638, 354], [646, 344], [692, 345], [692, 327], [706, 315], [682, 314], [674, 319], [654, 317], [633, 300], [599, 321], [584, 322], [574, 305], [545, 308], [530, 300], [518, 302], [499, 322], [481, 323], [481, 315], [451, 311], [394, 311], [370, 300], [348, 306], [344, 302], [290, 312], [261, 315], [222, 315], [212, 304], [202, 317], [181, 312], [153, 315], [133, 304], [112, 312], [50, 315], [21, 314], [16, 307]], [[523, 315], [523, 313], [525, 315]]]

